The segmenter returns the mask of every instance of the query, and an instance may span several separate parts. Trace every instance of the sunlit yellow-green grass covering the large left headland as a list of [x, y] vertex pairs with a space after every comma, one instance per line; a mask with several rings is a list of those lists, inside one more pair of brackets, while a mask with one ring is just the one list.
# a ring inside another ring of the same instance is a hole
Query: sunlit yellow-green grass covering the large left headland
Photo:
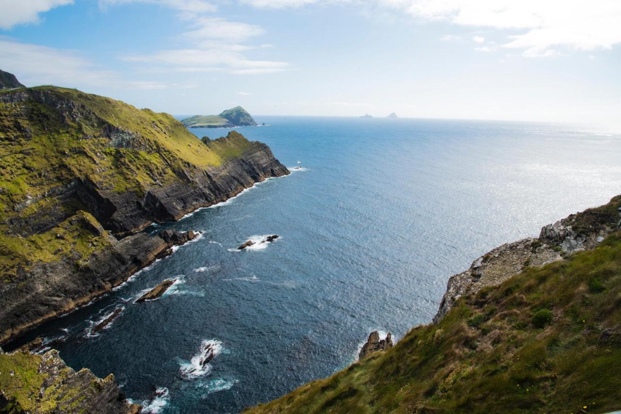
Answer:
[[[71, 102], [78, 120], [72, 120], [53, 104], [29, 100], [0, 103], [0, 274], [16, 274], [16, 264], [25, 267], [37, 260], [53, 260], [46, 246], [66, 251], [76, 245], [88, 254], [101, 243], [81, 243], [79, 227], [51, 228], [32, 235], [20, 234], [9, 224], [15, 218], [43, 221], [46, 212], [60, 209], [67, 216], [83, 209], [77, 201], [61, 202], [50, 191], [74, 178], [89, 178], [111, 192], [143, 194], [156, 183], [175, 181], [175, 171], [212, 168], [239, 156], [250, 143], [232, 133], [226, 143], [215, 140], [204, 145], [168, 114], [137, 109], [121, 101], [85, 94], [75, 89], [41, 86], [21, 89], [45, 92], [55, 102]], [[11, 92], [0, 92], [6, 94]], [[111, 146], [104, 137], [106, 124], [127, 133], [132, 148]], [[92, 218], [92, 217], [91, 217]], [[63, 230], [62, 232], [60, 230]], [[70, 233], [56, 238], [59, 233]], [[51, 243], [53, 241], [53, 243]], [[63, 243], [66, 241], [66, 243]], [[60, 246], [61, 245], [61, 246]]]

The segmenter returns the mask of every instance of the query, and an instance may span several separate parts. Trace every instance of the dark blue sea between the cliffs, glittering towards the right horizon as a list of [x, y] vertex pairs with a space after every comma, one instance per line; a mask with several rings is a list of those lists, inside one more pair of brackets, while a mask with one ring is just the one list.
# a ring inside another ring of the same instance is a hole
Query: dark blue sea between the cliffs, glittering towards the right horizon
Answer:
[[[129, 282], [30, 335], [73, 368], [113, 373], [147, 412], [239, 412], [397, 340], [448, 278], [507, 241], [621, 194], [621, 135], [510, 122], [256, 117], [290, 176], [164, 227], [202, 232]], [[193, 129], [217, 138], [228, 130]], [[278, 234], [246, 251], [248, 239]], [[153, 302], [134, 304], [168, 278]], [[99, 335], [90, 328], [124, 312]], [[215, 356], [201, 367], [200, 349]], [[153, 399], [155, 390], [159, 395]]]

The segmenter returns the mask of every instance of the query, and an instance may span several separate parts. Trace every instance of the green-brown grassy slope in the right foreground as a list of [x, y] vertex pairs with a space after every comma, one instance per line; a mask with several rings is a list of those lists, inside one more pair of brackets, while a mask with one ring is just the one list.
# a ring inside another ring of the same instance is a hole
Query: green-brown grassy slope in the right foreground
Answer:
[[[606, 331], [608, 330], [608, 331]], [[621, 235], [462, 297], [438, 325], [263, 412], [607, 412], [621, 408]]]

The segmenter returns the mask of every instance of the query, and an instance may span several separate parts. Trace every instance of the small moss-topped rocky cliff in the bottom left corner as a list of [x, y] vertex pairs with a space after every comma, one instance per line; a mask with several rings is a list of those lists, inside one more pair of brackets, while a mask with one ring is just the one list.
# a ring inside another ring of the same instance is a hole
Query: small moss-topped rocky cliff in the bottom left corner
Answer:
[[0, 412], [134, 414], [140, 406], [125, 399], [112, 374], [100, 379], [88, 369], [75, 372], [58, 351], [0, 350]]

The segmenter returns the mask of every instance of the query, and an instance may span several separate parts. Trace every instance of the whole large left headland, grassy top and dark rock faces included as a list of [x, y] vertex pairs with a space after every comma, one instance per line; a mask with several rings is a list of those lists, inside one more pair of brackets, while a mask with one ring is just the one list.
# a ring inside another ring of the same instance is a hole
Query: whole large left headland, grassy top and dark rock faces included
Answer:
[[75, 89], [0, 91], [0, 343], [101, 295], [189, 235], [137, 233], [289, 171], [237, 132]]

